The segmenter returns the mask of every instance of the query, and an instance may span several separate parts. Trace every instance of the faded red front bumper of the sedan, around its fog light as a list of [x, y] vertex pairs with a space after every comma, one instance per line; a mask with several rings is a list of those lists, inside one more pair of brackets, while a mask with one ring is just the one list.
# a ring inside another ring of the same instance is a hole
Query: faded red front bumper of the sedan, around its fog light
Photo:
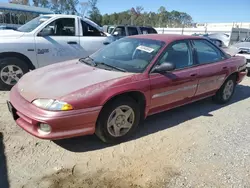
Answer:
[[[26, 101], [19, 94], [16, 86], [10, 91], [9, 103], [13, 107], [9, 110], [17, 125], [33, 136], [49, 140], [94, 134], [96, 121], [102, 108], [99, 106], [64, 112], [43, 110]], [[51, 132], [41, 133], [40, 123], [50, 125]]]

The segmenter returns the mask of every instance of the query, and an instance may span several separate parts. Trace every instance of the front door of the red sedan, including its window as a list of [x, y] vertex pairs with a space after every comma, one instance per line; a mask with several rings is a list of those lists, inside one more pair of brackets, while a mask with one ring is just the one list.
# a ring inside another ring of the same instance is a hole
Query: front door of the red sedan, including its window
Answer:
[[151, 112], [181, 105], [194, 97], [198, 80], [193, 51], [188, 40], [169, 44], [155, 66], [170, 62], [176, 69], [165, 74], [150, 73]]

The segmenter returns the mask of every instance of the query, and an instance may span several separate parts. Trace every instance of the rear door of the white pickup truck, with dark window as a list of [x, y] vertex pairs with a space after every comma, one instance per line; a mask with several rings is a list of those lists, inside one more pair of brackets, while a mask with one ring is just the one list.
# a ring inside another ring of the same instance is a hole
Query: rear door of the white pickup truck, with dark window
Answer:
[[103, 32], [83, 20], [81, 20], [81, 31], [79, 58], [93, 54], [110, 42]]

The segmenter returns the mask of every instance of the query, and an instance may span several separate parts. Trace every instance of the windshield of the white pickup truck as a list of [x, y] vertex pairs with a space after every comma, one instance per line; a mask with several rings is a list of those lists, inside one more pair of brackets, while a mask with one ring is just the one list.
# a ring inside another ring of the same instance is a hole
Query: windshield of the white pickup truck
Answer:
[[41, 25], [43, 22], [47, 21], [50, 19], [50, 16], [39, 16], [34, 18], [33, 20], [27, 22], [23, 26], [19, 27], [17, 31], [20, 32], [31, 32], [34, 29], [36, 29], [39, 25]]

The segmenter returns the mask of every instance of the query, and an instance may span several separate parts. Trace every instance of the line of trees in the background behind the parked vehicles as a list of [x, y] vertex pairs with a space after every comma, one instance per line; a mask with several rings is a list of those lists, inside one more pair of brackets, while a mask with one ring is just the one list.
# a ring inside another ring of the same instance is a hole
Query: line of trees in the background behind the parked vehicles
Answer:
[[50, 8], [59, 14], [81, 15], [88, 9], [88, 17], [99, 25], [131, 24], [153, 27], [190, 27], [193, 24], [192, 17], [189, 14], [176, 10], [167, 11], [164, 6], [161, 6], [157, 12], [146, 12], [142, 6], [137, 6], [123, 12], [101, 15], [97, 7], [98, 0], [89, 0], [84, 6], [81, 6], [79, 0], [10, 0], [10, 3]]

